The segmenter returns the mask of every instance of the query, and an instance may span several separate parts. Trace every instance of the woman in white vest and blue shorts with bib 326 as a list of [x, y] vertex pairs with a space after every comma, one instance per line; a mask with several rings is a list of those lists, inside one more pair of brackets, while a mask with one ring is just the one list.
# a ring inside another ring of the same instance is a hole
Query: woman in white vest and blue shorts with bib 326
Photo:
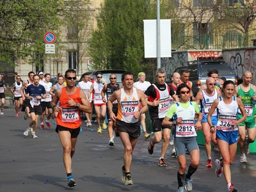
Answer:
[[[218, 124], [216, 126], [216, 140], [218, 147], [220, 148], [221, 156], [223, 160], [215, 160], [217, 177], [221, 177], [222, 171], [227, 182], [228, 192], [236, 192], [234, 183], [231, 182], [230, 164], [233, 163], [236, 157], [237, 142], [238, 142], [238, 127], [246, 119], [244, 112], [243, 102], [240, 98], [236, 98], [234, 95], [235, 84], [233, 81], [226, 81], [223, 84], [222, 93], [223, 97], [214, 100], [211, 110], [207, 116], [207, 121], [210, 126], [211, 132], [214, 132], [215, 126], [212, 125], [211, 116], [217, 109], [218, 112]], [[237, 111], [240, 109], [241, 118], [237, 120]]]

